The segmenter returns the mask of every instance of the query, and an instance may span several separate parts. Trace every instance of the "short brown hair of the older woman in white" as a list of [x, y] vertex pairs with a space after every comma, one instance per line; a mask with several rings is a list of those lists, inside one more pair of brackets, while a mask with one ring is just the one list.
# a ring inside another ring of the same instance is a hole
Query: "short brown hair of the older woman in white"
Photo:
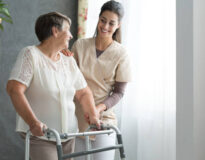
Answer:
[[71, 25], [70, 18], [59, 12], [50, 12], [39, 16], [35, 24], [35, 33], [38, 40], [43, 42], [52, 36], [52, 27], [56, 27], [61, 31], [64, 21], [67, 21]]

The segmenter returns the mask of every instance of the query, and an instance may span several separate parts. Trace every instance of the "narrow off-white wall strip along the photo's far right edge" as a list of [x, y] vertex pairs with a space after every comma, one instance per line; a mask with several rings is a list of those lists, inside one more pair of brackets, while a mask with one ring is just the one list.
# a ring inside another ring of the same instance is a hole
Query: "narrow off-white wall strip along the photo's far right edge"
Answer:
[[194, 160], [205, 159], [205, 1], [194, 0]]

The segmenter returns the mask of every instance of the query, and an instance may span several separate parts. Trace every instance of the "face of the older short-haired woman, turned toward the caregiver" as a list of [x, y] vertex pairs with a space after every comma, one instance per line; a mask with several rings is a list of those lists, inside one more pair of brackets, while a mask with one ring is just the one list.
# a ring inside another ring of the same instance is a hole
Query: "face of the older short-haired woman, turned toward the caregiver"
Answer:
[[63, 22], [62, 30], [58, 33], [58, 39], [62, 44], [62, 48], [69, 47], [69, 41], [73, 38], [72, 34], [70, 33], [70, 25], [67, 21]]

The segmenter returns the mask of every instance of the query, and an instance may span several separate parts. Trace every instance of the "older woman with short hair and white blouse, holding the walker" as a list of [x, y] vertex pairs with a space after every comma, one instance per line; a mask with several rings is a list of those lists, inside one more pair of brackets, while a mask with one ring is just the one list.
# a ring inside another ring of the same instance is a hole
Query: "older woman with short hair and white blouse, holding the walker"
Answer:
[[[22, 137], [30, 129], [31, 160], [57, 160], [55, 142], [46, 140], [43, 128], [60, 133], [77, 132], [74, 97], [81, 103], [86, 119], [99, 127], [92, 92], [73, 57], [60, 51], [68, 48], [71, 21], [52, 12], [40, 16], [35, 25], [39, 45], [25, 47], [11, 72], [7, 92], [18, 113], [16, 131]], [[74, 139], [63, 142], [64, 153], [74, 149]]]

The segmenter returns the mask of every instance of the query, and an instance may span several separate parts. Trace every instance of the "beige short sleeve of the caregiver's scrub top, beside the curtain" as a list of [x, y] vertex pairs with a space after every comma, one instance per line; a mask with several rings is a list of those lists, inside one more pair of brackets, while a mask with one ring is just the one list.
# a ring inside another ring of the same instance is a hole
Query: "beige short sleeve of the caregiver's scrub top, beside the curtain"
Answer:
[[121, 57], [116, 70], [115, 80], [118, 82], [130, 82], [132, 80], [131, 76], [131, 64], [130, 59], [127, 54]]

